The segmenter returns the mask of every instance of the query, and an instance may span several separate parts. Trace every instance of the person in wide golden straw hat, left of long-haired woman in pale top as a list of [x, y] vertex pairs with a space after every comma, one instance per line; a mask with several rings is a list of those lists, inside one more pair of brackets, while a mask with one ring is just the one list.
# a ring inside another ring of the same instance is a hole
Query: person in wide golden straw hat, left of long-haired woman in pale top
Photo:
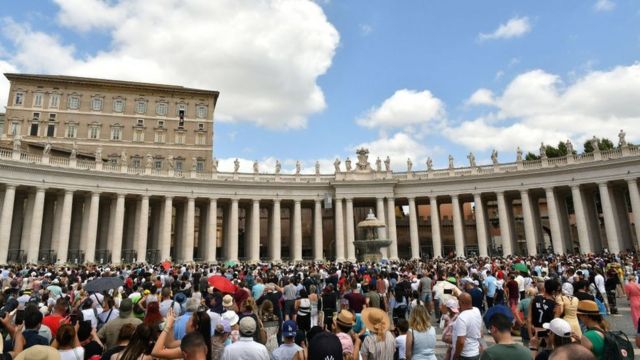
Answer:
[[365, 308], [362, 321], [370, 335], [364, 341], [356, 337], [354, 354], [359, 352], [363, 360], [393, 360], [396, 342], [389, 331], [389, 315], [381, 309]]

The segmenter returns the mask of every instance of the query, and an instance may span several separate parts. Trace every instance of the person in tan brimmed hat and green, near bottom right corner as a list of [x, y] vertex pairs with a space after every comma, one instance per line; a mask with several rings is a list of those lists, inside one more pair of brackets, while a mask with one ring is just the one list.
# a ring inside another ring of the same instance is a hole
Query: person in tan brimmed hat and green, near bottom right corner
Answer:
[[587, 328], [581, 337], [572, 335], [572, 337], [579, 341], [582, 346], [589, 349], [596, 359], [604, 360], [604, 332], [608, 330], [607, 323], [600, 314], [598, 304], [591, 300], [580, 300], [578, 302], [578, 319]]

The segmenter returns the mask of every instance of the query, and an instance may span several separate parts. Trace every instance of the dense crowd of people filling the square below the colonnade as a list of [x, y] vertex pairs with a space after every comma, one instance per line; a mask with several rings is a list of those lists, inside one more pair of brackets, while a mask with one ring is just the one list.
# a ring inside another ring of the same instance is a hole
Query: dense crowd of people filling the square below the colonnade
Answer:
[[[606, 319], [626, 296], [631, 319], [620, 321], [638, 328], [639, 273], [632, 253], [4, 266], [0, 353], [35, 360], [513, 360], [620, 358], [615, 350], [632, 358]], [[92, 290], [98, 282], [112, 285]]]

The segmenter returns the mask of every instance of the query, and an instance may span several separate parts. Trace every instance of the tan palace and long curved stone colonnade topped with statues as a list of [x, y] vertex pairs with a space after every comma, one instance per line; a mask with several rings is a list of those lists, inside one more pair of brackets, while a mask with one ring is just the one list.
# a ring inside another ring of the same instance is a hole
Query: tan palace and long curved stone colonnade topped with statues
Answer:
[[0, 263], [354, 260], [369, 209], [391, 259], [639, 247], [640, 148], [623, 132], [534, 161], [396, 172], [360, 149], [332, 173], [220, 172], [218, 92], [5, 76]]

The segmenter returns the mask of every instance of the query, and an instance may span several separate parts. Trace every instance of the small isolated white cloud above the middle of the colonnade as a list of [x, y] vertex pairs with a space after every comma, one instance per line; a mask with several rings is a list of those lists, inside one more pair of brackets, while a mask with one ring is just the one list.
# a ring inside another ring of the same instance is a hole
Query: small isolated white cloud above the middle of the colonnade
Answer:
[[404, 128], [436, 124], [445, 116], [444, 103], [429, 90], [396, 91], [356, 122], [367, 128]]

